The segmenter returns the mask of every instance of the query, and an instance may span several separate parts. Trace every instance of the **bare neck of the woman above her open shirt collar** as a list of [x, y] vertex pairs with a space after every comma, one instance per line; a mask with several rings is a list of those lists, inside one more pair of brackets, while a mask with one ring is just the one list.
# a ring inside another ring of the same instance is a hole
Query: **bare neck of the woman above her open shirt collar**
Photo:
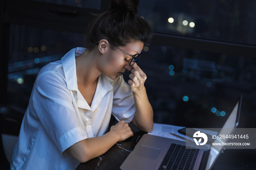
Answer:
[[102, 74], [97, 69], [98, 55], [96, 50], [85, 50], [83, 54], [76, 57], [76, 76], [78, 84], [90, 86], [97, 82], [99, 75]]

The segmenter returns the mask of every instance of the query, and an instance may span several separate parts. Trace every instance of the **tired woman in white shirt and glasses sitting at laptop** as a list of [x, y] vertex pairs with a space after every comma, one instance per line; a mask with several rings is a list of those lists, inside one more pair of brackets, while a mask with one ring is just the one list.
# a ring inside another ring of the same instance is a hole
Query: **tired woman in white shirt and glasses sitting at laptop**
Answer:
[[[69, 51], [38, 73], [11, 169], [75, 169], [133, 135], [153, 129], [153, 109], [136, 64], [151, 38], [138, 0], [110, 0], [87, 30], [87, 49]], [[122, 74], [131, 71], [128, 84]], [[110, 116], [119, 121], [106, 133]]]

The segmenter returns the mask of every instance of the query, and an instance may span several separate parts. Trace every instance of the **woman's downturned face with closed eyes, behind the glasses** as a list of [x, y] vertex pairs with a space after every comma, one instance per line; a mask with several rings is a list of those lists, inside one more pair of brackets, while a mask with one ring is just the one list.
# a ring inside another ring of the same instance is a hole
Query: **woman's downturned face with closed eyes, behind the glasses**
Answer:
[[[109, 49], [104, 58], [104, 65], [102, 67], [102, 72], [111, 79], [116, 79], [118, 76], [121, 76], [126, 70], [131, 71], [132, 67], [129, 66], [129, 63], [134, 54], [140, 54], [143, 49], [143, 43], [140, 41], [129, 43], [127, 46], [120, 46], [118, 49]], [[112, 46], [110, 44], [110, 46]], [[122, 49], [122, 50], [121, 50]], [[127, 53], [125, 53], [124, 51]]]

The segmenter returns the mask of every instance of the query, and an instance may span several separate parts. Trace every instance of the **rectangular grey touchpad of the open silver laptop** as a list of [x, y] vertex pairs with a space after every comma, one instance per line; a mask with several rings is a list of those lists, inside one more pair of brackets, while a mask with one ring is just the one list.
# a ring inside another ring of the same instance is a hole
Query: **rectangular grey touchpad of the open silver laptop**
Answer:
[[149, 159], [157, 159], [157, 156], [159, 155], [161, 149], [143, 146], [141, 145], [138, 149], [138, 151], [134, 154], [138, 157], [144, 157]]

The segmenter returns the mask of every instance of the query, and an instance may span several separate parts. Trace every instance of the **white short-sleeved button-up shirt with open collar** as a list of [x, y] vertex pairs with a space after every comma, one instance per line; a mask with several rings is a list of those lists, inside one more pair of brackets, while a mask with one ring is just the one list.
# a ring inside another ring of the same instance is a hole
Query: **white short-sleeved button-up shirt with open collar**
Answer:
[[75, 65], [75, 57], [84, 51], [72, 49], [38, 73], [11, 169], [75, 169], [80, 162], [65, 152], [68, 147], [103, 135], [111, 114], [118, 121], [132, 121], [134, 99], [123, 76], [111, 80], [101, 74], [91, 107], [87, 104], [78, 90]]

